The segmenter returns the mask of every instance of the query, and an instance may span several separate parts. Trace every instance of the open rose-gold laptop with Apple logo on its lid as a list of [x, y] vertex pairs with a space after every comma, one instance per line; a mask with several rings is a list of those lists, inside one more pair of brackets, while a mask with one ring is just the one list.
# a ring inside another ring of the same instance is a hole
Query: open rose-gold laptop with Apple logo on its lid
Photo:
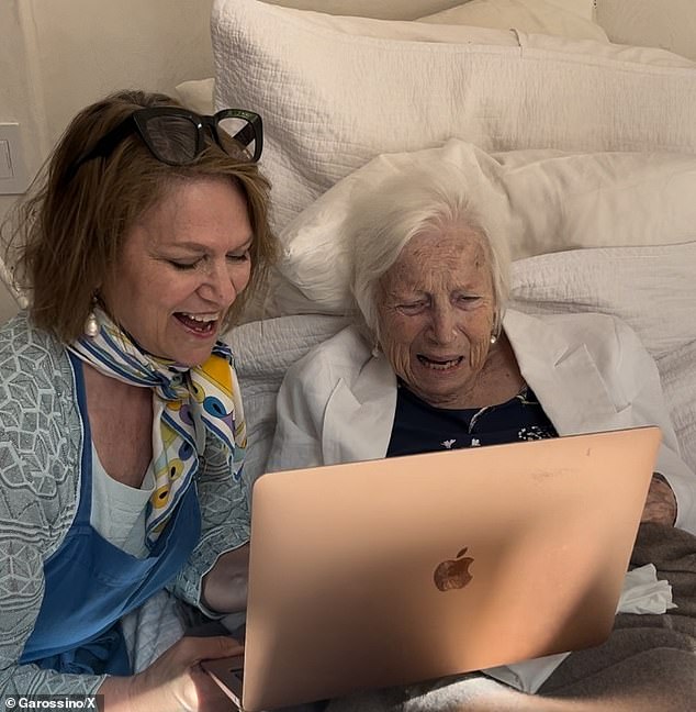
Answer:
[[640, 427], [265, 475], [243, 665], [204, 667], [257, 712], [597, 645], [659, 444]]

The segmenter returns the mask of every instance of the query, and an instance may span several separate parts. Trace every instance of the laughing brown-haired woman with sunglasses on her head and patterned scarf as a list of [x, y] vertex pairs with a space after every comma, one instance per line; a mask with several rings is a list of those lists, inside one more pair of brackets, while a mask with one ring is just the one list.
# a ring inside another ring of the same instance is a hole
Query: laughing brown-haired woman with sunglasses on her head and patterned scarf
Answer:
[[246, 603], [245, 420], [218, 341], [273, 257], [260, 118], [128, 91], [81, 111], [10, 241], [31, 308], [0, 330], [0, 691], [199, 710], [184, 638], [133, 675], [121, 619], [165, 587]]

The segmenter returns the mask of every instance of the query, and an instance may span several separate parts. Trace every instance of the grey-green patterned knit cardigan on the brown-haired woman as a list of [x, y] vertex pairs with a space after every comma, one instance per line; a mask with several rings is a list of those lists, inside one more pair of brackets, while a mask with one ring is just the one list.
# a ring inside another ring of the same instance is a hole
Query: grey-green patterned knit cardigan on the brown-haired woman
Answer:
[[[0, 696], [91, 693], [103, 676], [18, 665], [44, 594], [44, 561], [77, 511], [85, 443], [76, 378], [65, 347], [22, 312], [0, 327]], [[171, 586], [200, 607], [203, 575], [249, 537], [242, 461], [231, 471], [209, 435], [197, 476], [201, 538]]]

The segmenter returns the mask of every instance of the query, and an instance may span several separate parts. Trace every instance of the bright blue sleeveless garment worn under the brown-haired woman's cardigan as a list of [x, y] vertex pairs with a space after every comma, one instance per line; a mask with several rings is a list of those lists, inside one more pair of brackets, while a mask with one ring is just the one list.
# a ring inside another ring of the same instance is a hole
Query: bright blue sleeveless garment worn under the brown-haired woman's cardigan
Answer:
[[92, 450], [82, 366], [70, 355], [83, 416], [82, 476], [75, 521], [44, 563], [45, 590], [20, 664], [58, 672], [132, 675], [120, 620], [173, 580], [201, 533], [195, 485], [181, 498], [149, 556], [117, 548], [91, 525]]

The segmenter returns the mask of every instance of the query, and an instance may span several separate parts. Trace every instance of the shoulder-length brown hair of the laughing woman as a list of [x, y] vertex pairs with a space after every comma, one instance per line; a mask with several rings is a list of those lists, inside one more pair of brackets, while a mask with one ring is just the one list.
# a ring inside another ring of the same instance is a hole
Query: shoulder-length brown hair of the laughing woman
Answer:
[[31, 292], [32, 321], [66, 343], [81, 335], [94, 292], [116, 264], [124, 236], [172, 181], [227, 178], [246, 199], [254, 232], [251, 279], [225, 326], [259, 288], [276, 258], [268, 180], [256, 164], [227, 155], [211, 140], [194, 163], [169, 166], [134, 133], [108, 157], [87, 160], [75, 170], [78, 158], [133, 111], [162, 105], [180, 104], [165, 94], [121, 91], [80, 111], [13, 215], [8, 256], [12, 255], [18, 285]]

